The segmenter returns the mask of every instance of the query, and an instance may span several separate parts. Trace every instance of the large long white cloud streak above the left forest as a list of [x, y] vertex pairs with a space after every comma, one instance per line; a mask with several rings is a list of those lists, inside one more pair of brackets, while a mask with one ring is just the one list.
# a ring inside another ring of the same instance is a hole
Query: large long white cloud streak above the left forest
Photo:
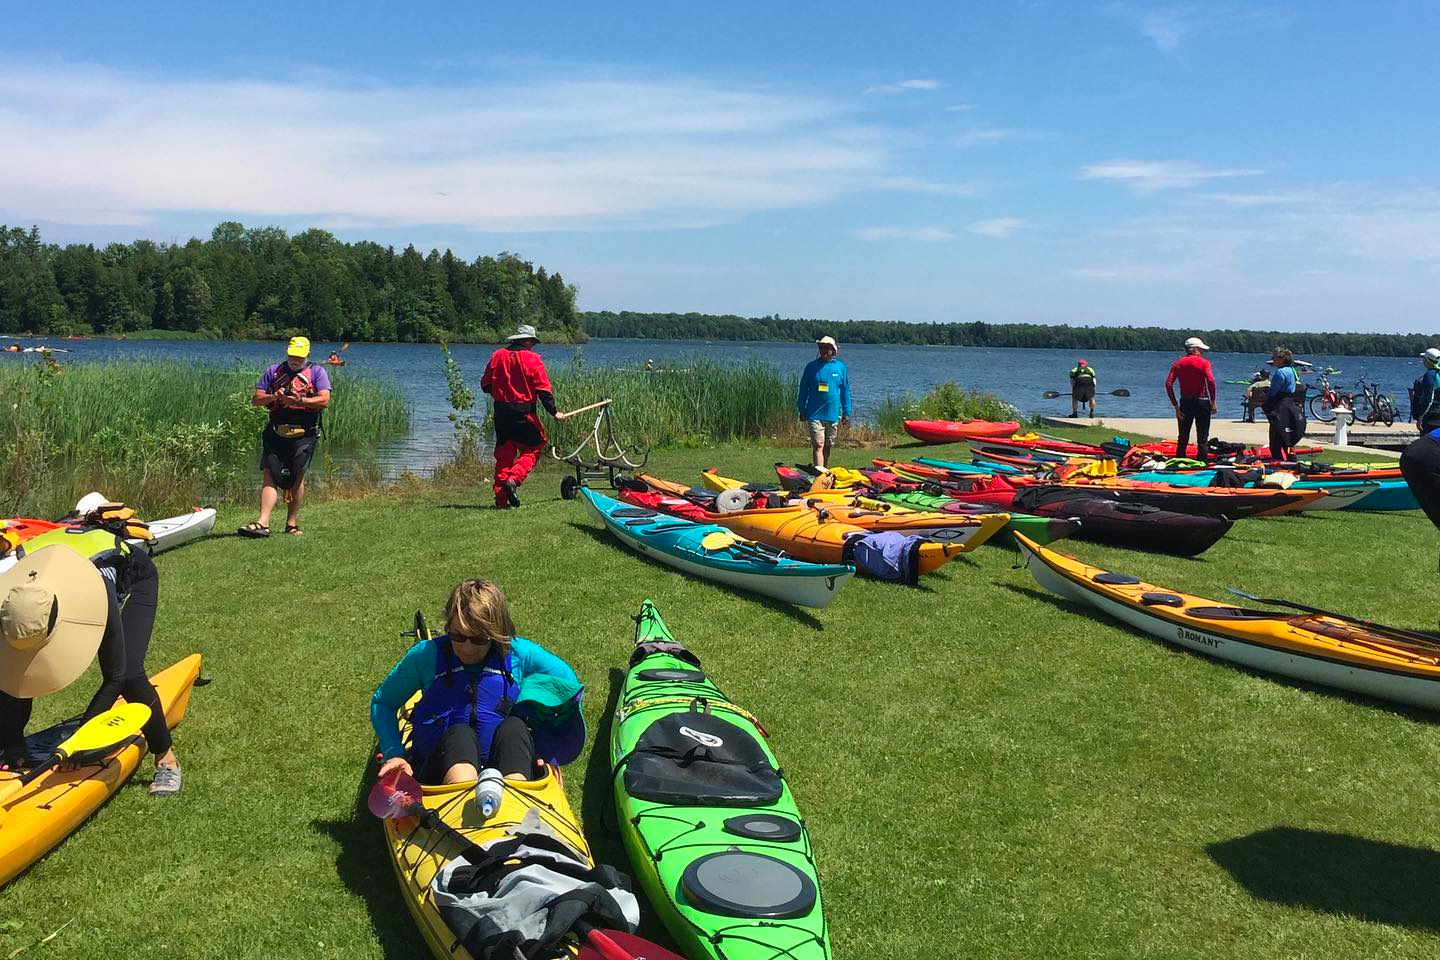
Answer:
[[0, 142], [0, 222], [652, 227], [922, 189], [842, 104], [675, 76], [393, 86], [10, 63]]

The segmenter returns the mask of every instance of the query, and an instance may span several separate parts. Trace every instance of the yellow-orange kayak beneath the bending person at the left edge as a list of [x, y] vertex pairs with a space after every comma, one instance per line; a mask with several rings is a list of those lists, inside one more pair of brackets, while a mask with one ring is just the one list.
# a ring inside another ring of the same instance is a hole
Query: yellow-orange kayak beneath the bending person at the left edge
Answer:
[[[184, 720], [190, 691], [199, 676], [200, 655], [192, 653], [150, 678], [171, 728]], [[27, 753], [49, 754], [71, 733], [73, 725], [60, 724], [30, 734], [26, 737]], [[144, 756], [144, 738], [132, 737], [89, 763], [56, 767], [0, 802], [0, 885], [69, 836], [130, 779]], [[17, 779], [20, 774], [3, 771], [0, 787]]]

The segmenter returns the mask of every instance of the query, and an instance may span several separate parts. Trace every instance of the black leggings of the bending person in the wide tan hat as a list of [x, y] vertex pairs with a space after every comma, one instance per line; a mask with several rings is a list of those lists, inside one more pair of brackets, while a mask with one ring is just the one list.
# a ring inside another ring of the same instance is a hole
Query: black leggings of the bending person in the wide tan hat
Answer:
[[[160, 695], [145, 674], [145, 652], [150, 649], [150, 635], [156, 626], [156, 604], [160, 600], [160, 574], [150, 554], [135, 550], [125, 561], [124, 571], [128, 596], [124, 606], [115, 593], [115, 584], [105, 580], [105, 597], [109, 613], [105, 617], [105, 633], [99, 640], [101, 685], [85, 708], [84, 720], [102, 714], [115, 705], [117, 697], [127, 702], [150, 707], [150, 720], [144, 734], [150, 751], [163, 754], [170, 750], [170, 725], [166, 711], [160, 708]], [[0, 757], [17, 757], [24, 753], [24, 727], [30, 723], [33, 701], [19, 699], [0, 692]]]

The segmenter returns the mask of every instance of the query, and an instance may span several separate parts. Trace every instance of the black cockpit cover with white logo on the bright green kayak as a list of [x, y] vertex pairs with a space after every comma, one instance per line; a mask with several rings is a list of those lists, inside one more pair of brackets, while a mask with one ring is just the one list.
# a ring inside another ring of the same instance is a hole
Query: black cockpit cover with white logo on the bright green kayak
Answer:
[[694, 710], [652, 723], [622, 763], [625, 792], [654, 803], [763, 806], [783, 787], [755, 737]]

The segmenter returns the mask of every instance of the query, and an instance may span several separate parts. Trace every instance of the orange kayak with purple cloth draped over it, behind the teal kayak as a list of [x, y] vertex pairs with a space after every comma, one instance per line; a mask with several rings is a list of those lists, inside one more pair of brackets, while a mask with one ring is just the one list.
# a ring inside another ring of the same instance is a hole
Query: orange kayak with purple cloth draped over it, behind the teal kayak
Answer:
[[[636, 479], [657, 492], [677, 498], [683, 498], [690, 489], [684, 484], [674, 484], [645, 474], [641, 474]], [[783, 550], [796, 560], [809, 560], [811, 563], [850, 563], [845, 558], [845, 541], [868, 533], [840, 520], [831, 511], [812, 510], [809, 507], [737, 510], [732, 514], [706, 511], [704, 521], [720, 524], [747, 540]], [[933, 573], [960, 556], [960, 553], [962, 550], [956, 544], [935, 541], [920, 544], [920, 573]]]

